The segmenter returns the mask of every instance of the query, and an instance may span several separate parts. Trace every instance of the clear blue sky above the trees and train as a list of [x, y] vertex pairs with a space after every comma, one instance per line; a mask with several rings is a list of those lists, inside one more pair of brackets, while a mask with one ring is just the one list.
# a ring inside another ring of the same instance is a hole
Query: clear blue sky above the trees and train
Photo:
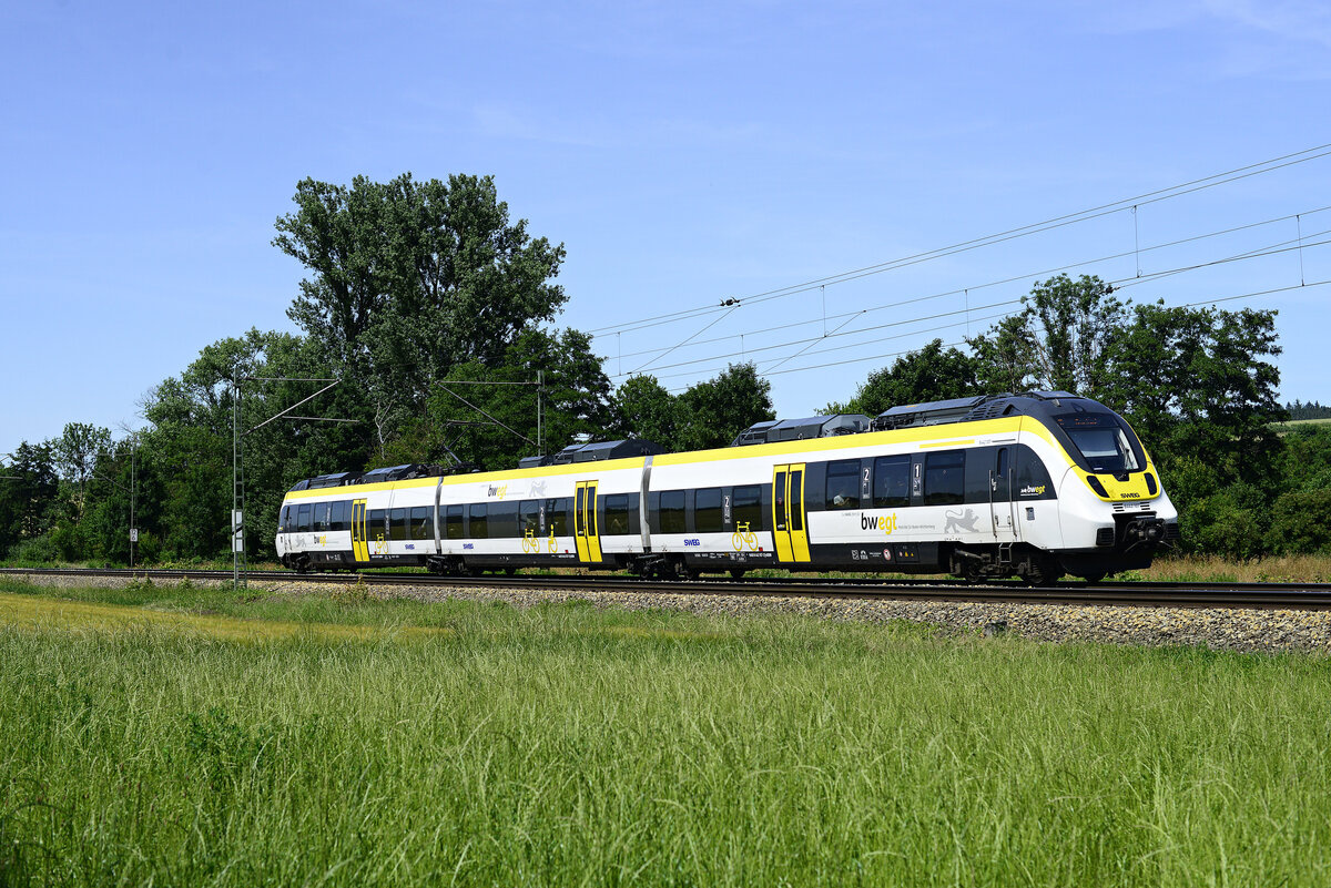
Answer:
[[[145, 392], [205, 344], [291, 328], [302, 273], [270, 241], [306, 175], [494, 174], [566, 245], [559, 323], [603, 330], [616, 382], [642, 367], [681, 388], [743, 354], [785, 416], [985, 328], [1005, 308], [980, 306], [1046, 270], [1141, 269], [1123, 295], [1170, 304], [1331, 279], [1331, 247], [1307, 246], [1331, 237], [1323, 157], [743, 302], [1331, 144], [1331, 12], [1312, 1], [68, 0], [3, 23], [0, 453], [69, 420], [141, 425]], [[1300, 231], [1302, 257], [1151, 278]], [[1279, 310], [1288, 399], [1331, 401], [1328, 296], [1225, 303]], [[783, 324], [801, 326], [761, 332]]]

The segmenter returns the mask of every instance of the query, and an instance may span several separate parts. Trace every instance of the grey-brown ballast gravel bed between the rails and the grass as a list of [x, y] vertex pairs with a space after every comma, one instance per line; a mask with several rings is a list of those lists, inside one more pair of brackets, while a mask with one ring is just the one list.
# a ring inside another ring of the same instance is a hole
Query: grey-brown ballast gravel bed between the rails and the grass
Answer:
[[[118, 586], [118, 577], [76, 578], [29, 574], [33, 585]], [[226, 585], [194, 581], [194, 585]], [[588, 601], [598, 608], [628, 610], [669, 609], [700, 615], [741, 617], [755, 613], [795, 613], [847, 622], [906, 619], [930, 623], [949, 634], [1012, 633], [1047, 642], [1107, 642], [1117, 645], [1203, 646], [1217, 650], [1276, 653], [1300, 650], [1331, 653], [1331, 611], [1256, 610], [1222, 608], [1082, 606], [1044, 604], [977, 604], [892, 600], [835, 600], [749, 596], [684, 594], [660, 592], [602, 592], [595, 589], [519, 590], [441, 586], [355, 586], [355, 584], [253, 581], [250, 594], [330, 594], [357, 589], [373, 598], [417, 601], [502, 601], [516, 608]]]

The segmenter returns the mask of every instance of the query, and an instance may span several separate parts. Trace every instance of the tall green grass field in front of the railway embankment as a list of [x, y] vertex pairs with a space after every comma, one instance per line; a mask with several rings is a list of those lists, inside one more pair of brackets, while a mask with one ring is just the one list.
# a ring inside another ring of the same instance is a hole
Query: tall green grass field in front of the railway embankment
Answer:
[[0, 885], [1331, 881], [1324, 658], [0, 581]]

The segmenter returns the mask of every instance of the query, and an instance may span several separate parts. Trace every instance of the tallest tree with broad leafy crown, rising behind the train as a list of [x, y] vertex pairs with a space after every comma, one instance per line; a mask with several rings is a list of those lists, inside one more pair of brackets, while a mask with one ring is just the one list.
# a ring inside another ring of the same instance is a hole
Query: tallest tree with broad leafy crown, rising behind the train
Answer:
[[305, 179], [273, 243], [311, 277], [287, 314], [363, 387], [381, 447], [455, 366], [495, 366], [564, 303], [563, 245], [510, 222], [491, 177]]

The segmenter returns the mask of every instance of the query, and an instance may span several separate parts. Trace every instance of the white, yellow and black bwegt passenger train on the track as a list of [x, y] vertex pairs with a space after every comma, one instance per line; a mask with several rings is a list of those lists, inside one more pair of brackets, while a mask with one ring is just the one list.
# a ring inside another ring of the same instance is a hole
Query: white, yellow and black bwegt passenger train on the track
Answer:
[[499, 472], [399, 465], [285, 496], [284, 566], [756, 569], [1099, 581], [1150, 566], [1178, 510], [1137, 433], [1062, 391], [771, 420], [729, 447], [572, 444]]

